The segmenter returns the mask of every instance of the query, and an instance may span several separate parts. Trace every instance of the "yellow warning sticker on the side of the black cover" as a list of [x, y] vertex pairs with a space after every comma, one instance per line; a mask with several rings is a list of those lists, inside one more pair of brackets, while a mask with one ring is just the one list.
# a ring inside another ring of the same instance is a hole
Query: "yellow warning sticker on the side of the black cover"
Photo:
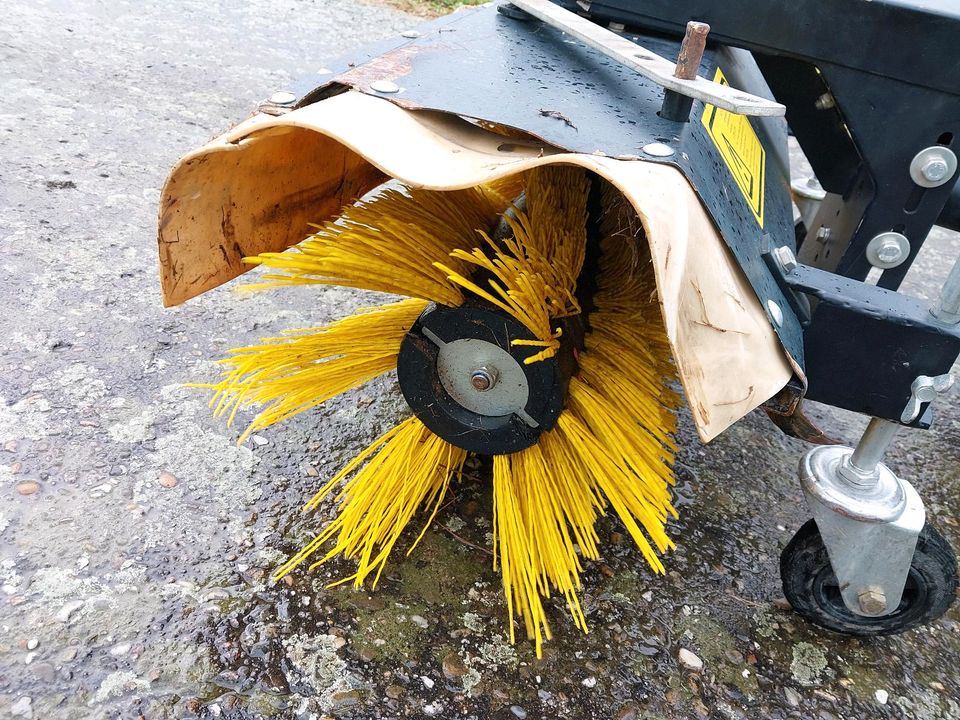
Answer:
[[[721, 85], [730, 84], [720, 68], [717, 68], [713, 81]], [[702, 121], [737, 187], [746, 198], [747, 205], [753, 211], [753, 216], [760, 223], [760, 227], [763, 227], [763, 187], [767, 179], [767, 153], [750, 120], [745, 115], [707, 105], [703, 110]]]

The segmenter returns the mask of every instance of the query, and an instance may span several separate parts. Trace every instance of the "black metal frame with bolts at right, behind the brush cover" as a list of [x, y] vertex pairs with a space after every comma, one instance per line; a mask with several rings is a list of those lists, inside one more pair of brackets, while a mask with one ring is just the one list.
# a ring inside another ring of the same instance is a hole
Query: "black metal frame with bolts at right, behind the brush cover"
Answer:
[[[960, 146], [960, 8], [947, 0], [599, 0], [581, 7], [598, 21], [673, 35], [689, 20], [707, 22], [713, 41], [754, 54], [828, 192], [798, 255], [835, 275], [801, 266], [786, 278], [816, 299], [804, 318], [807, 397], [899, 421], [913, 379], [948, 372], [960, 353], [957, 332], [884, 290], [900, 286], [939, 218], [960, 226], [957, 175], [922, 188], [909, 173], [920, 150]], [[876, 288], [854, 282], [872, 269], [868, 243], [887, 231], [909, 239], [909, 257], [883, 271]]]

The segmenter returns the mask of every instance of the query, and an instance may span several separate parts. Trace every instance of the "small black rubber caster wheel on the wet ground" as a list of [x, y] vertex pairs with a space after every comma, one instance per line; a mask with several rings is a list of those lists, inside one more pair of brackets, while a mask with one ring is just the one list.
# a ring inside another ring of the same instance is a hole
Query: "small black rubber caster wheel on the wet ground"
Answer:
[[917, 538], [900, 607], [883, 617], [850, 612], [830, 566], [817, 524], [810, 520], [780, 555], [783, 593], [812, 623], [847, 635], [893, 635], [943, 615], [956, 597], [957, 561], [950, 544], [930, 525]]

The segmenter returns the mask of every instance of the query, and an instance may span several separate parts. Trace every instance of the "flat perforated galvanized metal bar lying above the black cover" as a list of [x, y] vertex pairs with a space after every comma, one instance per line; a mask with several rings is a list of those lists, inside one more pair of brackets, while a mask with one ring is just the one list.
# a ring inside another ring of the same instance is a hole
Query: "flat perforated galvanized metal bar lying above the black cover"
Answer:
[[642, 45], [620, 37], [594, 22], [572, 13], [550, 0], [511, 0], [511, 5], [547, 25], [572, 35], [585, 45], [628, 67], [648, 80], [679, 95], [702, 100], [738, 115], [781, 117], [787, 109], [778, 102], [711, 82], [703, 77], [683, 80], [676, 76], [676, 63], [660, 57]]

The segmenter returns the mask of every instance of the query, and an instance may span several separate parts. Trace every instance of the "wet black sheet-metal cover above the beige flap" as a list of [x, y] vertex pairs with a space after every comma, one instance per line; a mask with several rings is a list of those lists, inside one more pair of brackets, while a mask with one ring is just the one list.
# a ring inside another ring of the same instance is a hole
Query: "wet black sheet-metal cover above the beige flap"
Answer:
[[[775, 330], [803, 366], [800, 324], [761, 259], [774, 247], [794, 247], [789, 177], [773, 157], [786, 142], [782, 120], [749, 121], [768, 149], [761, 228], [700, 121], [702, 103], [694, 102], [690, 122], [665, 120], [657, 114], [663, 99], [660, 86], [539, 21], [510, 19], [493, 6], [459, 11], [421, 26], [419, 32], [415, 39], [397, 38], [359, 53], [352, 62], [341, 62], [346, 71], [331, 81], [408, 109], [455, 113], [523, 130], [570, 151], [680, 168], [763, 305], [773, 301], [784, 310], [783, 325]], [[672, 40], [626, 37], [668, 58], [679, 49]], [[727, 72], [727, 61], [737, 62], [731, 58], [708, 49], [700, 74], [712, 78], [719, 63], [737, 86], [735, 75]], [[371, 87], [378, 81], [392, 82], [398, 91], [378, 93]], [[766, 88], [743, 89], [769, 96]], [[306, 104], [323, 97], [324, 89], [302, 95], [301, 104]], [[649, 143], [669, 145], [674, 154], [646, 155], [642, 148]]]

